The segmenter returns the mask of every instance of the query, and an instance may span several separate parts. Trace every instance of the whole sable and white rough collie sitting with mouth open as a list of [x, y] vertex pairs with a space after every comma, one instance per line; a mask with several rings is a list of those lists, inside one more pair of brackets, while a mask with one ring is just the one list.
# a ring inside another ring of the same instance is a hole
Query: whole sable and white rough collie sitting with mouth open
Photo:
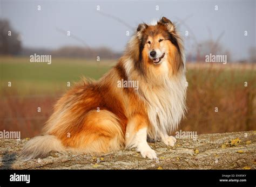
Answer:
[[[83, 80], [60, 98], [43, 134], [26, 144], [22, 156], [125, 147], [156, 159], [147, 138], [174, 146], [176, 139], [170, 135], [186, 111], [184, 63], [181, 38], [169, 19], [139, 24], [116, 66], [98, 82]], [[120, 81], [139, 84], [118, 87]]]

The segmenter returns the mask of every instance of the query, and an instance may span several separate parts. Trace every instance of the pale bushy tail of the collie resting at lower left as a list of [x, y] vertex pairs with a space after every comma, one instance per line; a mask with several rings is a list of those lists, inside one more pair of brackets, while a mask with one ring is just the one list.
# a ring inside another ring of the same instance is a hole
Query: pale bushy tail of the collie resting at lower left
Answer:
[[23, 160], [37, 159], [48, 156], [52, 151], [65, 152], [65, 148], [56, 136], [41, 135], [29, 140], [20, 156]]

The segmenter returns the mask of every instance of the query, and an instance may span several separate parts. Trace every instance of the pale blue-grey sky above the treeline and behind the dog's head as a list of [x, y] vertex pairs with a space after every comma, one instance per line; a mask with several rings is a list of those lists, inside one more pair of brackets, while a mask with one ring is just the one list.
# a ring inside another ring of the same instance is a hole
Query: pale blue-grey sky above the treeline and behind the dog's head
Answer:
[[[41, 5], [41, 11], [37, 10]], [[248, 57], [248, 49], [255, 46], [255, 0], [234, 1], [17, 1], [1, 0], [1, 17], [10, 20], [15, 30], [22, 34], [23, 46], [55, 49], [66, 45], [83, 44], [67, 37], [56, 27], [71, 31], [90, 47], [106, 46], [115, 51], [123, 51], [130, 37], [126, 31], [132, 30], [118, 21], [104, 17], [96, 10], [110, 13], [137, 27], [142, 21], [165, 16], [172, 21], [185, 19], [179, 25], [184, 35], [187, 51], [192, 50], [193, 40], [185, 37], [191, 31], [201, 42], [213, 39], [224, 31], [220, 39], [232, 59]], [[156, 5], [159, 10], [156, 11]], [[218, 11], [214, 6], [218, 5]], [[244, 36], [248, 31], [248, 36]]]

